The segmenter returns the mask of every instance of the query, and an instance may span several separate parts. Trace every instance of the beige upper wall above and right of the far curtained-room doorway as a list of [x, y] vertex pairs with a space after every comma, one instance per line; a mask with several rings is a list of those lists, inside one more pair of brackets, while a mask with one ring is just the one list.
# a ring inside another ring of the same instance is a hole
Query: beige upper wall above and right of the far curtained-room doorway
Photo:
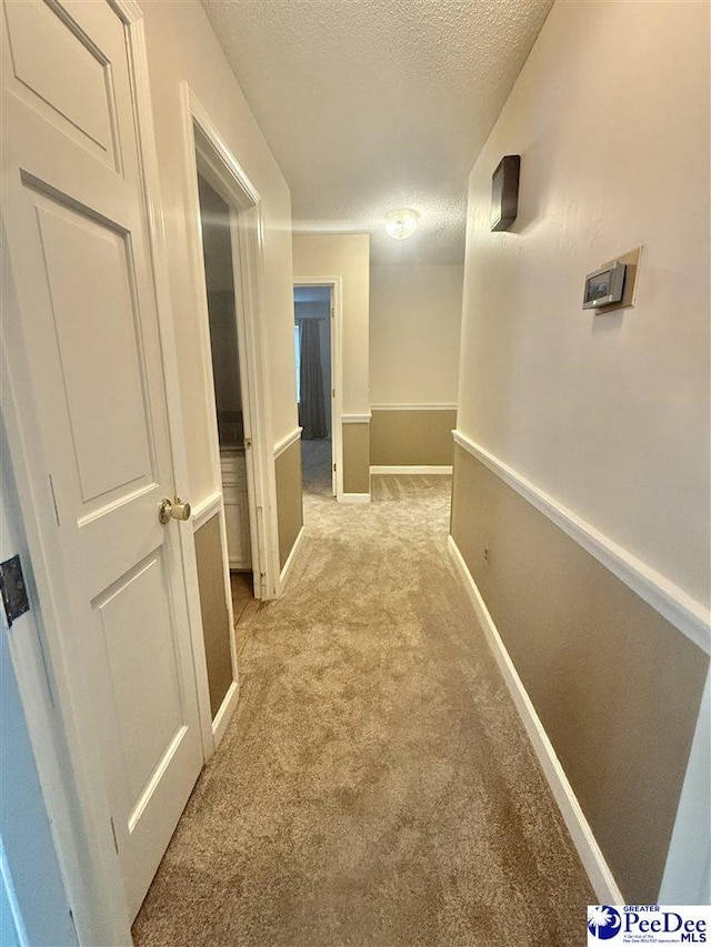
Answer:
[[[367, 414], [369, 396], [370, 235], [296, 233], [293, 279], [343, 279], [343, 414]], [[292, 370], [293, 372], [293, 370]]]

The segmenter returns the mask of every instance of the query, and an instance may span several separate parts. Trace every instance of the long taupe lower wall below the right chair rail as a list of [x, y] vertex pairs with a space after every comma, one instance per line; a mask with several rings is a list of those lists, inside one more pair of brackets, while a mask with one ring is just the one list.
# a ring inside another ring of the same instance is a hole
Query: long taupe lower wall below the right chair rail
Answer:
[[708, 657], [460, 446], [451, 533], [623, 896], [655, 901]]

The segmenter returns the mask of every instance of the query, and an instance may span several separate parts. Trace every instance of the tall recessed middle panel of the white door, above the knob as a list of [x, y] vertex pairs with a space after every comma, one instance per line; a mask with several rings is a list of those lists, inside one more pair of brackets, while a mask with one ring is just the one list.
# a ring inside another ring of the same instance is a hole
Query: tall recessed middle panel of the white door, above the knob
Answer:
[[37, 197], [84, 507], [154, 480], [126, 234]]

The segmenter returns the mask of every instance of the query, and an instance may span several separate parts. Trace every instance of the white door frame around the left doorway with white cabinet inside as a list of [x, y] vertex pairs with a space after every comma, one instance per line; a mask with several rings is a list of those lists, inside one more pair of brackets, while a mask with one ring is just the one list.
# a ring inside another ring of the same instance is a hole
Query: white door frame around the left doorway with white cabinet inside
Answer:
[[[254, 595], [258, 598], [276, 598], [279, 590], [279, 533], [271, 437], [271, 387], [269, 385], [267, 338], [262, 319], [263, 254], [260, 195], [188, 82], [182, 83], [181, 97], [184, 167], [190, 169], [186, 187], [188, 204], [194, 214], [191, 221], [192, 225], [188, 229], [189, 252], [194, 275], [192, 282], [196, 288], [199, 288], [194, 304], [198, 312], [201, 313], [200, 357], [203, 360], [207, 374], [204, 396], [207, 416], [210, 419], [213, 483], [221, 493], [220, 444], [214, 412], [210, 319], [204, 282], [202, 229], [198, 195], [198, 155], [200, 158], [200, 173], [206, 177], [230, 206], [234, 294], [238, 301], [236, 310], [240, 379], [243, 403], [249, 405], [248, 411], [244, 412], [246, 435], [251, 440], [252, 445], [246, 451], [246, 456], [252, 566], [256, 578]], [[247, 433], [248, 425], [249, 434]], [[221, 530], [226, 575], [229, 583], [223, 504]], [[236, 667], [234, 652], [233, 661]]]

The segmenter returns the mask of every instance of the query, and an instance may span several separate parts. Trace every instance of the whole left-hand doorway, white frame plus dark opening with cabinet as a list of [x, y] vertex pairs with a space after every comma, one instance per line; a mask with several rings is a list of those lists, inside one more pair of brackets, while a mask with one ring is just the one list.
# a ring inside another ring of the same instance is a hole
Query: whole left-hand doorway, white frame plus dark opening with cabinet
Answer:
[[[277, 597], [280, 571], [261, 201], [188, 83], [182, 84], [182, 100], [186, 160], [193, 168], [188, 187], [194, 218], [187, 262], [200, 288], [194, 303], [203, 319], [196, 357], [209, 367], [206, 397], [211, 415], [212, 493], [202, 500], [201, 514], [204, 522], [220, 513], [226, 581], [229, 564], [252, 576], [254, 598], [269, 600]], [[211, 234], [203, 235], [201, 202]]]

